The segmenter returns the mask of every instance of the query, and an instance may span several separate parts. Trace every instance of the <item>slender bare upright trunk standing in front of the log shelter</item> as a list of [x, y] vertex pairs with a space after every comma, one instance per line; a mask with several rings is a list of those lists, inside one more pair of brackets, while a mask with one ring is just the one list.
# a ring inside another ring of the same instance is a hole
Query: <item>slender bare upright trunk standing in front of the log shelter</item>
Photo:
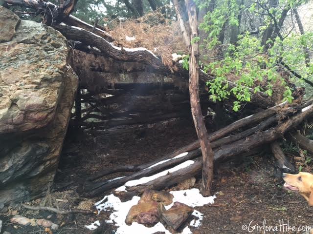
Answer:
[[[188, 10], [189, 27], [191, 31], [191, 40], [198, 37], [197, 11], [196, 4], [193, 0], [186, 0]], [[202, 167], [202, 184], [201, 194], [203, 196], [211, 195], [211, 184], [213, 180], [213, 150], [210, 145], [209, 136], [201, 113], [199, 97], [199, 42], [194, 41], [190, 47], [189, 59], [189, 93], [191, 113], [199, 138], [203, 167]]]

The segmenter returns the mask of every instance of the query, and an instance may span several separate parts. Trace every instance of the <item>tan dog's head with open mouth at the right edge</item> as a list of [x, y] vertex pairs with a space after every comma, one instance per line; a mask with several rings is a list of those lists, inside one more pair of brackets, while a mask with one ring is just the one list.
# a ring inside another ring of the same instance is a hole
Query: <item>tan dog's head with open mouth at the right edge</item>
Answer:
[[309, 204], [313, 205], [313, 175], [307, 172], [299, 172], [292, 175], [283, 173], [284, 187], [292, 192], [309, 195]]

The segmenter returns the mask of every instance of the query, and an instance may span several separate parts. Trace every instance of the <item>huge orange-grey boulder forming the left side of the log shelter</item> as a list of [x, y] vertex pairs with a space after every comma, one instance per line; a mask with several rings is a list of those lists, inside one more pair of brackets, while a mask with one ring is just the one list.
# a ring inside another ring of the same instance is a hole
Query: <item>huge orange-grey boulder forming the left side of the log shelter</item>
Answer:
[[53, 181], [78, 78], [56, 30], [0, 6], [0, 207]]

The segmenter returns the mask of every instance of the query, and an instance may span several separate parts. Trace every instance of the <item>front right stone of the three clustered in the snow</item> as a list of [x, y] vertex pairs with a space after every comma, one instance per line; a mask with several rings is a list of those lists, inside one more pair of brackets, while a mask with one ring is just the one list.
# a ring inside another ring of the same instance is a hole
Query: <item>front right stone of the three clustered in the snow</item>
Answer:
[[177, 230], [193, 211], [194, 209], [183, 203], [174, 202], [174, 205], [169, 210], [162, 213], [161, 220], [174, 230]]

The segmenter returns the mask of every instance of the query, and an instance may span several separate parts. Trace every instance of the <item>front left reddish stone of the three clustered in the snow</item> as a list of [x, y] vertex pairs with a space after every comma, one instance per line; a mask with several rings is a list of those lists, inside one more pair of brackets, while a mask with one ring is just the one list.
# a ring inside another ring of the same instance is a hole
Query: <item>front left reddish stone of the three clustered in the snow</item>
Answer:
[[131, 225], [133, 222], [137, 222], [154, 226], [160, 220], [161, 213], [164, 210], [163, 204], [156, 201], [141, 202], [132, 206], [126, 216], [125, 223]]

